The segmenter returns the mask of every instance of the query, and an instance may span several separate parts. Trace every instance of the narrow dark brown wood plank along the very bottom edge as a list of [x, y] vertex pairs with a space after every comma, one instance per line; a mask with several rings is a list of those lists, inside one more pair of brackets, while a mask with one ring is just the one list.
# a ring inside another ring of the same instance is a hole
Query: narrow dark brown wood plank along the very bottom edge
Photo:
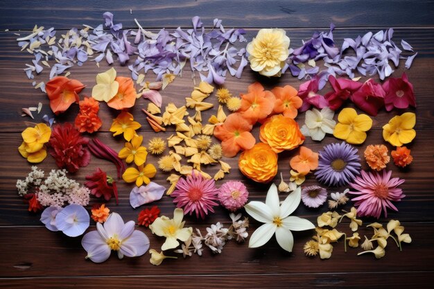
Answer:
[[180, 288], [180, 284], [196, 288], [399, 288], [408, 280], [417, 288], [431, 288], [431, 274], [433, 272], [361, 272], [320, 274], [242, 274], [224, 275], [212, 274], [207, 276], [132, 276], [132, 277], [54, 277], [54, 278], [26, 278], [0, 279], [0, 286], [4, 288]]

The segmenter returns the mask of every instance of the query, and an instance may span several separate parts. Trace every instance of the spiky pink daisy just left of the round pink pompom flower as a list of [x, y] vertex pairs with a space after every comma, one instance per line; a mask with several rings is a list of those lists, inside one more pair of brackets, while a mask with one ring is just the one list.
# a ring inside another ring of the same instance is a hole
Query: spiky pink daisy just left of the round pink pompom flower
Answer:
[[218, 205], [215, 202], [217, 194], [214, 179], [205, 179], [194, 170], [186, 179], [180, 178], [171, 196], [175, 197], [176, 207], [184, 209], [185, 214], [196, 212], [196, 218], [204, 219], [208, 211], [214, 213], [213, 207]]

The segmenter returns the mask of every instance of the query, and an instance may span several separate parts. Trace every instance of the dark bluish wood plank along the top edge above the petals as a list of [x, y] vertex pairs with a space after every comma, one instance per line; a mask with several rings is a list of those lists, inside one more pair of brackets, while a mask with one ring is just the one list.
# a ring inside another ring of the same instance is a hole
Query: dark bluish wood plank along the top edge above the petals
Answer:
[[[132, 13], [130, 13], [132, 10]], [[103, 12], [115, 15], [115, 22], [135, 28], [134, 18], [147, 28], [190, 26], [191, 17], [202, 17], [211, 26], [214, 18], [227, 27], [342, 27], [433, 26], [433, 1], [119, 1], [62, 2], [46, 0], [0, 3], [0, 29], [29, 29], [35, 24], [69, 29], [80, 24], [103, 23]], [[417, 16], [416, 16], [417, 15]], [[19, 19], [19, 20], [18, 20]]]

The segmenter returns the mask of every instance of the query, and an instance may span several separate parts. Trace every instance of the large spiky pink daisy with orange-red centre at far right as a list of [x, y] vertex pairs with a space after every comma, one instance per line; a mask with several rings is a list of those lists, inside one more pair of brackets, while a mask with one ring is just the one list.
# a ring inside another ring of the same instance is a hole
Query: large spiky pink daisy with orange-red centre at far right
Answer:
[[406, 195], [402, 193], [397, 186], [404, 182], [403, 179], [394, 177], [390, 179], [392, 171], [386, 172], [369, 172], [362, 170], [362, 175], [354, 179], [354, 183], [349, 184], [357, 191], [349, 191], [352, 195], [358, 195], [353, 198], [354, 205], [357, 208], [358, 216], [372, 216], [380, 218], [381, 211], [384, 211], [384, 216], [387, 218], [387, 208], [398, 211], [391, 201], [399, 202]]

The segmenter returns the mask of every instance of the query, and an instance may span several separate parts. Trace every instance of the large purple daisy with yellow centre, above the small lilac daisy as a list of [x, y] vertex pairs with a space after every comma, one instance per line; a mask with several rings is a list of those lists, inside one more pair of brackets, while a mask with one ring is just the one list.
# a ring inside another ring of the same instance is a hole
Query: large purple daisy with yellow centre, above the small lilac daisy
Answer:
[[327, 186], [344, 186], [360, 174], [357, 149], [348, 143], [331, 143], [320, 150], [315, 177]]

